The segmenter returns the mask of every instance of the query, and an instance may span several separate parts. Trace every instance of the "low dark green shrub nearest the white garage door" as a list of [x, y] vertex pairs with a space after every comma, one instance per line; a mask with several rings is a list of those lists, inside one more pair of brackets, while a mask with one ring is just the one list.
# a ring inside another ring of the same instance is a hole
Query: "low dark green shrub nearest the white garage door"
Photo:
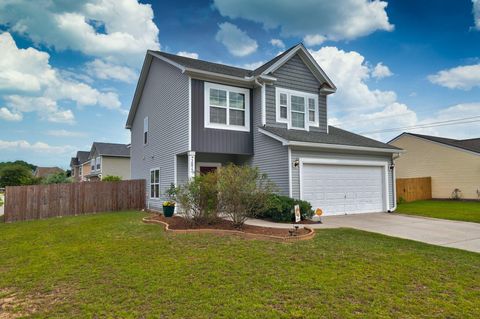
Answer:
[[293, 222], [295, 221], [295, 205], [300, 206], [302, 220], [312, 218], [313, 210], [309, 202], [277, 194], [270, 194], [266, 207], [263, 210], [257, 210], [253, 216], [260, 219], [272, 219], [276, 222]]

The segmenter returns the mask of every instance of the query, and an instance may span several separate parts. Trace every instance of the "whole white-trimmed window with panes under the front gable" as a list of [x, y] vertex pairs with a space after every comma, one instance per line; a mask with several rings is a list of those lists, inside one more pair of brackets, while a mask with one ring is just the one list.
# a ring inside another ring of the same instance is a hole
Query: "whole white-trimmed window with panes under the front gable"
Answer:
[[318, 126], [318, 96], [312, 93], [276, 88], [276, 119], [288, 128], [308, 130]]

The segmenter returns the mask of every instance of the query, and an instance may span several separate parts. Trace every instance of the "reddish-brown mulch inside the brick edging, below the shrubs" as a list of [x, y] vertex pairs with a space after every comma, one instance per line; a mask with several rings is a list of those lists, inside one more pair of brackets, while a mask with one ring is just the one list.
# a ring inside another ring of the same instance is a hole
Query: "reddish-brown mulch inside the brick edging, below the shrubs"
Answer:
[[[180, 216], [164, 217], [161, 214], [152, 215], [150, 220], [157, 220], [168, 224], [171, 230], [189, 230], [189, 229], [218, 229], [218, 230], [235, 230], [248, 234], [259, 234], [276, 237], [294, 237], [290, 235], [289, 229], [269, 228], [260, 226], [243, 225], [242, 228], [235, 227], [229, 220], [218, 218], [212, 223], [192, 223]], [[292, 227], [293, 229], [293, 227]], [[311, 230], [299, 227], [297, 236], [307, 235]]]

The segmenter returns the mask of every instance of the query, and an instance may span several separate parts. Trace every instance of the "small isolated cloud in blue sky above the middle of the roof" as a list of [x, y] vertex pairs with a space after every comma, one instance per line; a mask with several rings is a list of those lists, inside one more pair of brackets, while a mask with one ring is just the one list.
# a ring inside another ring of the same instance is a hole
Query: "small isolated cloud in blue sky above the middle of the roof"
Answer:
[[250, 38], [245, 31], [240, 30], [236, 25], [224, 22], [219, 24], [219, 28], [215, 39], [225, 45], [234, 56], [243, 57], [257, 50], [257, 41]]

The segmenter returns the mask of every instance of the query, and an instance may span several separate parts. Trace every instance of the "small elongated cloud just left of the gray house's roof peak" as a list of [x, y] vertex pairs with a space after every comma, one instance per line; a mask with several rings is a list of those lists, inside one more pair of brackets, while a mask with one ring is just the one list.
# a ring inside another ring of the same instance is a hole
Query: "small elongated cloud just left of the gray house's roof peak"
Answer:
[[133, 83], [137, 79], [137, 73], [130, 67], [116, 65], [95, 59], [86, 64], [87, 74], [101, 80], [117, 80], [126, 83]]

